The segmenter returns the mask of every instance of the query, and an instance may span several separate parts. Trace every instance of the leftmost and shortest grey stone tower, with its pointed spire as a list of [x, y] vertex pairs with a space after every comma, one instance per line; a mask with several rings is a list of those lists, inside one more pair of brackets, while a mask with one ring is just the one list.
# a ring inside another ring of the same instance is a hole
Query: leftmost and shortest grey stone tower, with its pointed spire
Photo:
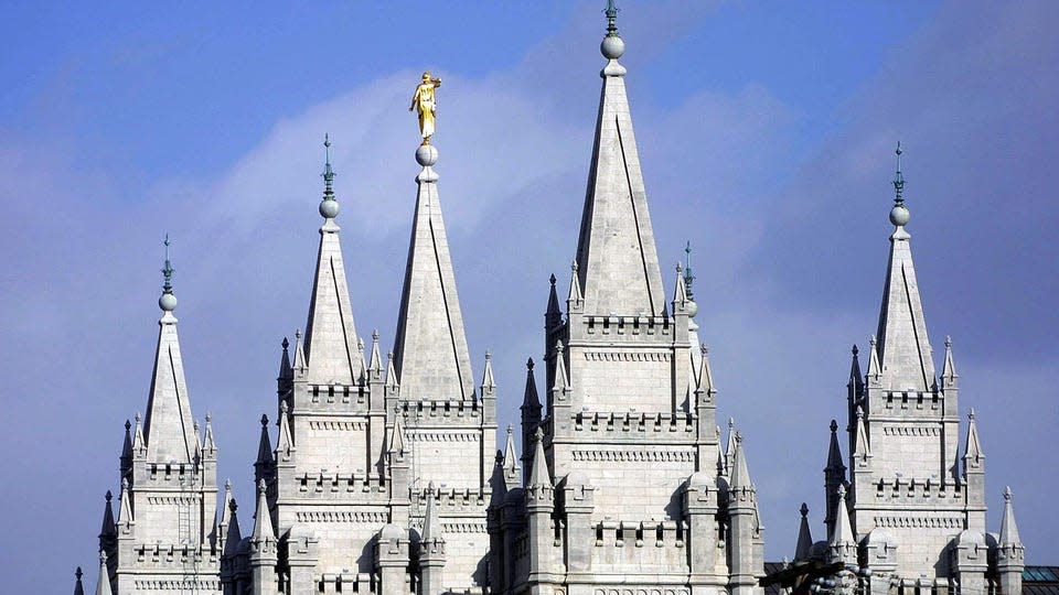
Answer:
[[[165, 240], [167, 247], [169, 239]], [[126, 422], [120, 500], [107, 493], [97, 593], [220, 593], [217, 445], [210, 415], [200, 439], [176, 336], [173, 268], [167, 256], [158, 348], [147, 415]]]

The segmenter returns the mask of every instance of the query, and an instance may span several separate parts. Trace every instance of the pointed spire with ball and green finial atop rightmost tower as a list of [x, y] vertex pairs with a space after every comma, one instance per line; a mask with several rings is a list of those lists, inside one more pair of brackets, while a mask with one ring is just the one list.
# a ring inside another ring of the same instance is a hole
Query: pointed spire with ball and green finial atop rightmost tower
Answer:
[[897, 175], [894, 180], [897, 197], [890, 210], [890, 223], [896, 229], [890, 236], [890, 259], [879, 311], [878, 354], [884, 387], [891, 390], [928, 390], [934, 385], [934, 363], [927, 337], [923, 304], [919, 299], [916, 267], [912, 264], [911, 235], [905, 230], [909, 213], [902, 196], [905, 177], [900, 159], [901, 148], [898, 144]]

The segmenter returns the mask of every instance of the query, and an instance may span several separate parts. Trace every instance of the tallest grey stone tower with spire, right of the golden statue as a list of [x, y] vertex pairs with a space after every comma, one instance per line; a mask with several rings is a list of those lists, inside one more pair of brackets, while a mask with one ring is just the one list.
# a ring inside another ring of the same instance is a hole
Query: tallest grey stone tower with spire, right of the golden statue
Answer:
[[758, 593], [762, 527], [677, 267], [663, 291], [609, 3], [602, 93], [566, 311], [553, 278], [545, 408], [532, 361], [522, 405], [530, 473], [490, 509], [494, 593]]

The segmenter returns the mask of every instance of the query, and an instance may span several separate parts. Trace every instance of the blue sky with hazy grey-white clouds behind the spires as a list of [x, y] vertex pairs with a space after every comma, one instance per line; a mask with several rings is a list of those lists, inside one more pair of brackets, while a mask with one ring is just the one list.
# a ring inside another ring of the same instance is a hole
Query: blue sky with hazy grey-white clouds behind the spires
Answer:
[[[357, 326], [392, 345], [425, 68], [446, 79], [437, 170], [475, 374], [491, 349], [514, 422], [547, 278], [575, 250], [601, 4], [6, 6], [11, 589], [61, 592], [94, 566], [121, 426], [147, 402], [165, 232], [193, 411], [213, 413], [221, 474], [247, 499], [279, 342], [304, 325], [324, 132]], [[952, 335], [978, 413], [990, 527], [1009, 484], [1029, 561], [1059, 563], [1059, 4], [620, 6], [659, 251], [695, 247], [719, 416], [746, 436], [768, 558], [790, 555], [803, 500], [823, 531], [827, 424], [851, 345], [875, 331], [901, 140], [930, 337], [940, 357]]]

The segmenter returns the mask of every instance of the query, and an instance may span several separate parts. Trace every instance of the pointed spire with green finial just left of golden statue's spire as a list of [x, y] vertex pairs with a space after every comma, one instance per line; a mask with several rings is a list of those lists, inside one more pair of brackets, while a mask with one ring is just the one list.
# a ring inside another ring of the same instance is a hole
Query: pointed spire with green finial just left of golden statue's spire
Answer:
[[[352, 385], [356, 375], [356, 326], [350, 305], [350, 288], [345, 280], [345, 263], [339, 242], [339, 202], [334, 198], [331, 181], [330, 140], [324, 166], [324, 195], [320, 215], [320, 249], [317, 253], [317, 273], [309, 301], [309, 322], [306, 323], [304, 357], [309, 363], [310, 385]], [[296, 358], [297, 360], [297, 355]]]

